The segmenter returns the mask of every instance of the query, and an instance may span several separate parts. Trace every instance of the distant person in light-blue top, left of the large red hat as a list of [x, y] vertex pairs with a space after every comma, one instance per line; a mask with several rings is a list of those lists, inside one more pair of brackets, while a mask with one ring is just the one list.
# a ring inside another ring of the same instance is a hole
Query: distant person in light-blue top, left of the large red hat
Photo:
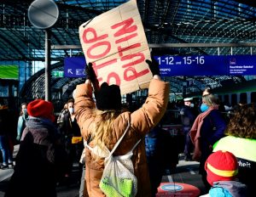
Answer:
[[26, 103], [23, 103], [20, 105], [20, 116], [17, 124], [17, 138], [16, 138], [17, 141], [20, 141], [22, 132], [26, 127], [27, 120], [28, 120], [28, 114], [26, 110]]

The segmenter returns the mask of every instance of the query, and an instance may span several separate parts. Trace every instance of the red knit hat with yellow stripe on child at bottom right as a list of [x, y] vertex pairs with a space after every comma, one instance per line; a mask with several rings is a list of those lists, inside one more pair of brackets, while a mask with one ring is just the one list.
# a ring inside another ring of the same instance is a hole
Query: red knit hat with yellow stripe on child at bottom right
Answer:
[[217, 181], [232, 181], [238, 172], [236, 156], [229, 151], [218, 150], [209, 155], [205, 169], [207, 181], [211, 185]]

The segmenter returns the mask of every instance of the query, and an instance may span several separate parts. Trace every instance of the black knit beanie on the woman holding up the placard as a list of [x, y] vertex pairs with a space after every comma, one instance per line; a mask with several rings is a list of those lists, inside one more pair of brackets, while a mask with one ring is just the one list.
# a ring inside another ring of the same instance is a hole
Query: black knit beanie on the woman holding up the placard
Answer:
[[117, 85], [108, 86], [103, 82], [96, 94], [96, 107], [98, 110], [121, 110], [121, 93]]

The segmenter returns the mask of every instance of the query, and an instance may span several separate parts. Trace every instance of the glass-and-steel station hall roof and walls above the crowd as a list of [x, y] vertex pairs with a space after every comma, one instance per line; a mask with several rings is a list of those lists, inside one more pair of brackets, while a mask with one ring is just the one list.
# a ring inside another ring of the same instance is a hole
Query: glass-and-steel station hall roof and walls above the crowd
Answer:
[[[59, 17], [50, 32], [50, 93], [59, 109], [83, 78], [63, 77], [66, 57], [83, 56], [79, 25], [127, 1], [56, 0]], [[45, 31], [28, 19], [32, 1], [3, 0], [0, 7], [0, 65], [18, 65], [16, 79], [1, 78], [1, 97], [18, 103], [44, 98]], [[149, 48], [157, 55], [243, 55], [256, 53], [253, 1], [137, 1]], [[61, 72], [59, 72], [61, 71]], [[61, 73], [58, 76], [58, 73]], [[166, 76], [171, 93], [200, 94], [255, 76]], [[255, 98], [253, 98], [255, 99]], [[59, 104], [59, 105], [58, 105]]]

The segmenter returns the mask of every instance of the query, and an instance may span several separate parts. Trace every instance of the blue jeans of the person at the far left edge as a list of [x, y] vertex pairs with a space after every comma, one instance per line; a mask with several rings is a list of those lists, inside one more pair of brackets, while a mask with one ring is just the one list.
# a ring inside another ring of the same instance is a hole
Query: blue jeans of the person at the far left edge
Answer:
[[9, 147], [9, 138], [6, 135], [0, 135], [0, 149], [3, 155], [3, 165], [13, 162], [13, 155]]

